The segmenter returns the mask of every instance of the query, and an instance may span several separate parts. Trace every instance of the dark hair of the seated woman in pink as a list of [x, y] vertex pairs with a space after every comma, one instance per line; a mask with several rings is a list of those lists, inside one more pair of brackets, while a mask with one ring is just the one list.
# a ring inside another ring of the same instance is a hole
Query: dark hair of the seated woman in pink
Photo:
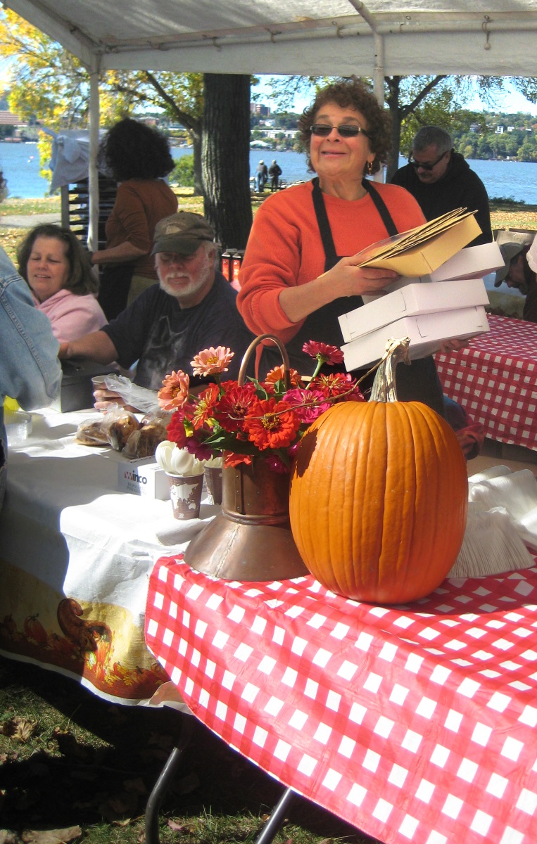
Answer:
[[52, 237], [53, 240], [60, 241], [67, 246], [66, 256], [69, 262], [69, 275], [65, 284], [66, 290], [70, 290], [77, 296], [98, 292], [99, 280], [91, 272], [89, 252], [86, 252], [84, 246], [70, 229], [64, 229], [62, 226], [52, 223], [36, 225], [24, 237], [24, 241], [20, 241], [19, 246], [17, 246], [18, 270], [26, 284], [28, 284], [28, 260], [38, 237]]

